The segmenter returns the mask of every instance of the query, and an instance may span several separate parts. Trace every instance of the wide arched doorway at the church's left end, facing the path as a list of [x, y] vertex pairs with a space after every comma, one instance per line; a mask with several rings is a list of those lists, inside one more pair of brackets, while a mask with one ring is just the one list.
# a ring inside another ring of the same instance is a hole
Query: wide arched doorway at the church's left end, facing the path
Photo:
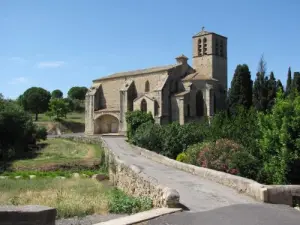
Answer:
[[119, 120], [112, 115], [100, 116], [95, 121], [95, 134], [118, 133]]

